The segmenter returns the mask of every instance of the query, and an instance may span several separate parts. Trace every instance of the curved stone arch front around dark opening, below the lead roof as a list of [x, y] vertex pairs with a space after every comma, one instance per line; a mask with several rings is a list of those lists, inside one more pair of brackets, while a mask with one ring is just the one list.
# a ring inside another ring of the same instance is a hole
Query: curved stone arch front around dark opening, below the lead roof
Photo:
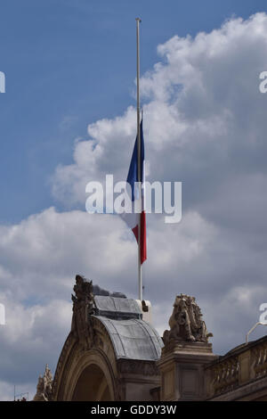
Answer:
[[[117, 399], [117, 363], [112, 342], [96, 318], [93, 319], [93, 330], [93, 341], [89, 346], [69, 333], [55, 373], [54, 400]], [[91, 385], [92, 381], [97, 386]]]

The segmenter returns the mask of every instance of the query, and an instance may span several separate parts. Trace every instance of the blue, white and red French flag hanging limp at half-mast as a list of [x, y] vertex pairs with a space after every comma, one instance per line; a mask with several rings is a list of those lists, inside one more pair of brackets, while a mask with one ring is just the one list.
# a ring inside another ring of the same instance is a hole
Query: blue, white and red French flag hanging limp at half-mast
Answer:
[[[139, 196], [138, 187], [138, 137], [136, 136], [135, 144], [134, 144], [134, 152], [132, 155], [132, 160], [127, 176], [127, 183], [131, 185], [131, 193], [132, 193], [132, 207], [134, 204], [136, 208], [140, 208], [141, 210], [141, 233], [140, 233], [140, 261], [141, 264], [147, 259], [147, 237], [146, 237], [146, 213], [145, 213], [145, 191], [144, 191], [144, 182], [145, 182], [145, 160], [144, 160], [144, 142], [143, 142], [143, 134], [142, 134], [142, 121], [140, 124], [140, 131], [141, 131], [141, 185], [142, 185], [142, 196]], [[139, 229], [139, 219], [140, 213], [135, 213], [132, 211], [131, 213], [124, 213], [123, 218], [127, 226], [129, 226], [135, 235], [136, 241], [138, 243], [138, 229]]]

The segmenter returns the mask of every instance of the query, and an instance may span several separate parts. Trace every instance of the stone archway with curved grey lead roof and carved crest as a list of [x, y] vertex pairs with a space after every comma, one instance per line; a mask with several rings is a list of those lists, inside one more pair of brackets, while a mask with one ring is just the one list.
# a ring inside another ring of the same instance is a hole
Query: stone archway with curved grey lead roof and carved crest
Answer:
[[76, 282], [71, 330], [49, 399], [150, 400], [159, 385], [158, 333], [135, 300], [93, 295], [92, 282], [79, 275]]

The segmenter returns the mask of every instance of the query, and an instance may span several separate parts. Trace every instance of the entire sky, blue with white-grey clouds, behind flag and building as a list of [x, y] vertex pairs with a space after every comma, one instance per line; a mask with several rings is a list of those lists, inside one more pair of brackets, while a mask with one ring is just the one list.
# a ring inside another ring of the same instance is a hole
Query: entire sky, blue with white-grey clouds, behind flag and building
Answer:
[[182, 181], [182, 222], [148, 215], [145, 298], [159, 333], [183, 292], [196, 297], [215, 353], [245, 340], [267, 300], [266, 8], [2, 2], [0, 399], [14, 383], [33, 396], [46, 362], [54, 373], [76, 274], [136, 298], [133, 234], [119, 217], [85, 212], [86, 183], [125, 179], [133, 151], [136, 16], [149, 179]]

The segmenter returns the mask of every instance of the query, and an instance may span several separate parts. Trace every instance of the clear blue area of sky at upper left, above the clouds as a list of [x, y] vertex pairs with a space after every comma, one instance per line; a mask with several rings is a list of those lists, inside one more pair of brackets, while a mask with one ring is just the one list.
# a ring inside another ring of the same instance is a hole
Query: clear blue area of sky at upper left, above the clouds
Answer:
[[50, 205], [50, 177], [72, 160], [86, 126], [134, 104], [135, 21], [142, 73], [157, 45], [266, 10], [264, 1], [9, 1], [1, 4], [0, 191], [2, 223]]

